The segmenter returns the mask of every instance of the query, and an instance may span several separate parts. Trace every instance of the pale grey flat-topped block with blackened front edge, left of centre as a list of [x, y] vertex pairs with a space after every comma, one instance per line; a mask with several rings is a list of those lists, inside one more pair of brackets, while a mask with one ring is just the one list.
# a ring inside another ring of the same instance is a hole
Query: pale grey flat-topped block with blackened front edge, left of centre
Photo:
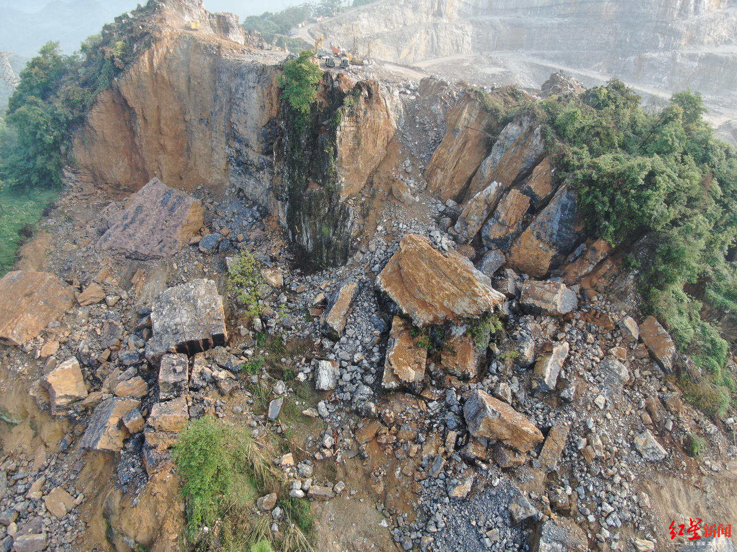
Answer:
[[153, 337], [146, 358], [158, 366], [166, 353], [194, 355], [226, 342], [223, 298], [212, 280], [197, 279], [162, 291], [151, 305]]

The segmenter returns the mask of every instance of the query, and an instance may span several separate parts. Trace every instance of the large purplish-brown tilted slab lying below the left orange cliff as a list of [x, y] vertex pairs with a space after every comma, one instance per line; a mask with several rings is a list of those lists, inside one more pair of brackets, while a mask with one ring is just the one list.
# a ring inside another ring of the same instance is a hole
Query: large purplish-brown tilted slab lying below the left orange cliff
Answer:
[[169, 257], [200, 230], [203, 213], [199, 199], [153, 178], [125, 208], [107, 216], [108, 230], [96, 247], [141, 261]]

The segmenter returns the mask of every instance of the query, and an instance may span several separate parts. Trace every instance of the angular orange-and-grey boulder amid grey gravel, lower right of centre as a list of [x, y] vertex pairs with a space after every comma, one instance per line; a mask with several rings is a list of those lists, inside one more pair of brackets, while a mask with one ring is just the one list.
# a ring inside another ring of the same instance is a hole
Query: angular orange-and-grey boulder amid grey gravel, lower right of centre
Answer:
[[523, 414], [481, 389], [469, 394], [463, 413], [473, 436], [500, 441], [523, 453], [542, 441], [540, 430]]

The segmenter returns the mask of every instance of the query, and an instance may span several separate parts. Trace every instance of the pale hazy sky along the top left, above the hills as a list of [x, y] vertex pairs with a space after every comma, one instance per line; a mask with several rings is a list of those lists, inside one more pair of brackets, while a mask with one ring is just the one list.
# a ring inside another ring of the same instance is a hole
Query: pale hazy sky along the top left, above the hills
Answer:
[[[32, 57], [49, 40], [71, 54], [116, 15], [147, 0], [0, 0], [0, 52]], [[301, 4], [302, 0], [204, 0], [210, 12], [258, 15]]]

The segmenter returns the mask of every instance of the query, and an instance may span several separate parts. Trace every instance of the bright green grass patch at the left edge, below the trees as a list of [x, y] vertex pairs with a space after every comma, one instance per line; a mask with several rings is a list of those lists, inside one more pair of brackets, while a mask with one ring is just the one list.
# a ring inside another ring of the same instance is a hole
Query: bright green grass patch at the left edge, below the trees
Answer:
[[15, 263], [21, 232], [24, 233], [22, 237], [30, 236], [43, 210], [56, 199], [57, 194], [57, 191], [43, 189], [29, 193], [0, 191], [0, 276]]

